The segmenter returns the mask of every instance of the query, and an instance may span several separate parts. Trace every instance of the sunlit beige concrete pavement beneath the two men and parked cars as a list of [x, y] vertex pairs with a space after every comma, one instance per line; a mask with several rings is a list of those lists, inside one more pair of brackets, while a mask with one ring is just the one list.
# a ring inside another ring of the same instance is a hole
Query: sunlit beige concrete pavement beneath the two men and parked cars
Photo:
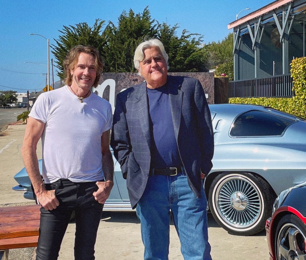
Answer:
[[[23, 198], [22, 192], [13, 191], [17, 185], [14, 174], [24, 165], [21, 146], [25, 125], [9, 125], [0, 133], [0, 207], [34, 203]], [[37, 156], [42, 157], [41, 143], [37, 146]], [[70, 223], [65, 233], [59, 260], [72, 260], [75, 223]], [[211, 256], [214, 260], [268, 260], [268, 246], [265, 232], [256, 236], [233, 236], [221, 228], [208, 213], [208, 235]], [[192, 231], [190, 233], [192, 239]], [[143, 259], [144, 247], [140, 235], [140, 223], [135, 212], [103, 212], [97, 242], [96, 259], [134, 260]], [[174, 225], [170, 225], [170, 260], [183, 260], [180, 242]], [[12, 249], [9, 260], [35, 259], [35, 248]]]

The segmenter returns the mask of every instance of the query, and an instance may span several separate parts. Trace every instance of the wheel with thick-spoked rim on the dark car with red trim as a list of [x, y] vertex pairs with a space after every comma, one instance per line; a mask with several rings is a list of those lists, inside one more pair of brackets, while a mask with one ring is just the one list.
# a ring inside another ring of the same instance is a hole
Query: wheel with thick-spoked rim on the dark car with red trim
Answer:
[[275, 237], [277, 260], [306, 259], [306, 227], [297, 216], [283, 216], [278, 222]]

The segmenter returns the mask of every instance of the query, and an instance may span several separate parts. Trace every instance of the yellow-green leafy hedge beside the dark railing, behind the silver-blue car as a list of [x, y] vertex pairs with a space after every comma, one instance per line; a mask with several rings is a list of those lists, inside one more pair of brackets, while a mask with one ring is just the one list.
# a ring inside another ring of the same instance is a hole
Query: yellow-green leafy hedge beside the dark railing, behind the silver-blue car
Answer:
[[277, 110], [306, 118], [306, 57], [296, 58], [291, 63], [291, 77], [293, 78], [292, 98], [230, 98], [229, 103], [256, 104], [270, 106]]

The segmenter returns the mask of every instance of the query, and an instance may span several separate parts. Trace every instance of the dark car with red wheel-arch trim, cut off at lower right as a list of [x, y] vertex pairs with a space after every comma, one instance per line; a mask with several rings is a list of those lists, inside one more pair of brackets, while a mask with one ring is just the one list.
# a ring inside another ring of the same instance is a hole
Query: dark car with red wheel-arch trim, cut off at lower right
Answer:
[[306, 182], [282, 191], [266, 231], [270, 260], [306, 259]]

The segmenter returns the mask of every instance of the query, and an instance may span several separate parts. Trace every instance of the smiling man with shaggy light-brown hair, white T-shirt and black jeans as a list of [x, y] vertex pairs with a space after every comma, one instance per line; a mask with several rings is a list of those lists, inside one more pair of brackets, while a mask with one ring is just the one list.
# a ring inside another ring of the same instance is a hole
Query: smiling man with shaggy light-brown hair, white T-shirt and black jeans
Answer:
[[[95, 259], [103, 204], [113, 187], [109, 149], [111, 105], [91, 92], [103, 64], [91, 46], [73, 47], [64, 61], [66, 85], [37, 98], [24, 135], [22, 157], [41, 204], [36, 260], [58, 259], [75, 211], [74, 257]], [[43, 145], [43, 180], [36, 145]]]

